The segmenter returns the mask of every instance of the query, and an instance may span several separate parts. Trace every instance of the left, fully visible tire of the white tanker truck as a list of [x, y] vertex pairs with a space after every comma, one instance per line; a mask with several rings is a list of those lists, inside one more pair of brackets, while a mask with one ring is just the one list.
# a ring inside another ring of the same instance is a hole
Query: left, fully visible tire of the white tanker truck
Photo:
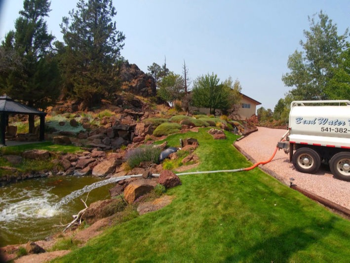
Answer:
[[293, 165], [302, 173], [313, 174], [318, 171], [321, 165], [321, 157], [310, 148], [300, 148], [293, 154]]

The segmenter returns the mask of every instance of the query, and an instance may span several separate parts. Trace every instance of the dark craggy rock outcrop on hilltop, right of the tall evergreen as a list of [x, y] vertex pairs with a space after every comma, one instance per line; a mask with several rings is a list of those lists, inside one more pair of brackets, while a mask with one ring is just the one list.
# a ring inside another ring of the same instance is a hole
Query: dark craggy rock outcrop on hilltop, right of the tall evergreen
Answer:
[[145, 74], [135, 64], [124, 62], [120, 66], [119, 76], [124, 90], [143, 97], [156, 96], [155, 79]]

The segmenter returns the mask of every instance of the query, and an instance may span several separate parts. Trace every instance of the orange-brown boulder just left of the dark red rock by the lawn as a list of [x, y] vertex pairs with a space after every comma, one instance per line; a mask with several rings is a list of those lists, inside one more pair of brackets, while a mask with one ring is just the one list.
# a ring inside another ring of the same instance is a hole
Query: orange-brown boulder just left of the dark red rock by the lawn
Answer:
[[131, 204], [138, 197], [150, 192], [155, 187], [156, 182], [152, 180], [140, 179], [133, 181], [124, 189], [124, 198], [129, 204]]

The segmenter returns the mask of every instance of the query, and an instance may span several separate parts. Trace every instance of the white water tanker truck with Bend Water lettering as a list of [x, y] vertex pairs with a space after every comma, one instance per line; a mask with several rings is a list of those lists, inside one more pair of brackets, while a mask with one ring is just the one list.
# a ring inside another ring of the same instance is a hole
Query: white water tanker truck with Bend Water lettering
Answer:
[[350, 181], [350, 101], [293, 101], [289, 133], [278, 147], [300, 172], [313, 174], [324, 163]]

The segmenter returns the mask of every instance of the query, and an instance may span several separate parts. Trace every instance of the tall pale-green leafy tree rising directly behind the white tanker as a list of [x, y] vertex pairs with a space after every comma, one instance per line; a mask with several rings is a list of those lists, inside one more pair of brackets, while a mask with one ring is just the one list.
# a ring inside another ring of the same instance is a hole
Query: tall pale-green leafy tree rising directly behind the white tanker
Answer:
[[338, 35], [337, 25], [320, 11], [309, 17], [310, 31], [304, 30], [306, 41], [300, 44], [304, 51], [295, 51], [288, 58], [289, 73], [282, 76], [284, 84], [293, 87], [290, 94], [298, 100], [327, 99], [325, 87], [333, 77], [333, 69], [346, 47], [348, 29]]

